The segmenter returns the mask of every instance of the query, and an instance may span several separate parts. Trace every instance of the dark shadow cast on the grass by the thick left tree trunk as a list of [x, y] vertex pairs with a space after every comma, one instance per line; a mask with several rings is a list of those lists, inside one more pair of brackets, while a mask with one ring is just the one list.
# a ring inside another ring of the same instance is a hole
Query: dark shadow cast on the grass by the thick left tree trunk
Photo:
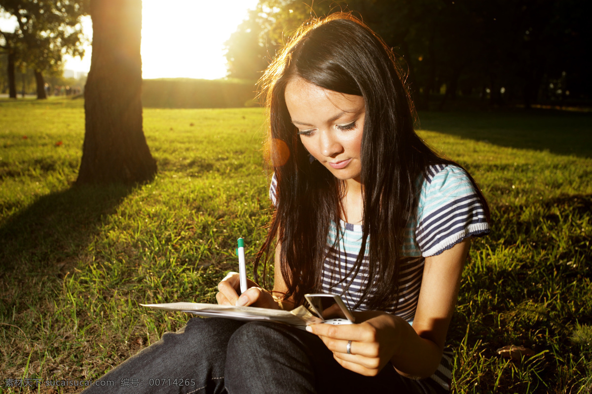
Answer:
[[131, 190], [125, 185], [76, 186], [42, 196], [9, 217], [0, 227], [0, 281], [12, 271], [72, 265], [102, 218]]

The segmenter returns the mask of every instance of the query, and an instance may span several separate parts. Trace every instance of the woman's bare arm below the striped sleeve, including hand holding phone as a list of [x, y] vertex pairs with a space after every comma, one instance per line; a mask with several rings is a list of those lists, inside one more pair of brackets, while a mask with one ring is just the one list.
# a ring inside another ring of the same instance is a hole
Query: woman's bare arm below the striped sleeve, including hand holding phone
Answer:
[[[426, 258], [413, 327], [384, 312], [359, 312], [361, 324], [317, 324], [307, 328], [333, 351], [343, 367], [375, 376], [388, 363], [401, 375], [428, 377], [442, 358], [469, 240]], [[351, 354], [346, 353], [351, 340]]]

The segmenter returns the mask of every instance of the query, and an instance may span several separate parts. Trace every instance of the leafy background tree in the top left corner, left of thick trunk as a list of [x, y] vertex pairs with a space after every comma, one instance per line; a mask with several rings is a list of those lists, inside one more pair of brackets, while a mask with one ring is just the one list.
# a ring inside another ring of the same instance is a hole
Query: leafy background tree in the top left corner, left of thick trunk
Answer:
[[73, 56], [84, 54], [80, 17], [86, 14], [86, 2], [87, 0], [0, 0], [0, 11], [12, 15], [18, 22], [14, 33], [0, 32], [5, 38], [8, 67], [12, 67], [12, 71], [8, 71], [9, 80], [14, 78], [15, 63], [22, 69], [31, 68], [37, 82], [37, 98], [47, 97], [43, 73], [61, 70], [62, 57], [66, 53]]

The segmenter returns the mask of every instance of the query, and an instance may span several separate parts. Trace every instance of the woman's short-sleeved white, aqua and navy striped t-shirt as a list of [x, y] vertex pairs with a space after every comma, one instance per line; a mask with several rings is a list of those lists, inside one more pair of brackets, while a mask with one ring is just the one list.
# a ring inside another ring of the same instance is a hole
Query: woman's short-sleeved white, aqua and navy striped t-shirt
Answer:
[[[384, 311], [400, 316], [413, 324], [417, 299], [422, 286], [424, 259], [436, 256], [470, 236], [485, 235], [489, 224], [485, 211], [475, 188], [465, 170], [455, 165], [432, 165], [427, 168], [420, 188], [417, 214], [407, 223], [406, 240], [403, 245], [401, 266], [399, 269], [398, 306], [395, 304]], [[272, 178], [269, 195], [275, 201], [276, 178]], [[329, 229], [326, 259], [322, 272], [322, 291], [339, 294], [346, 305], [353, 308], [369, 284], [368, 240], [365, 259], [357, 276], [347, 284], [340, 283], [358, 258], [362, 243], [362, 226], [339, 222], [340, 239], [336, 243], [336, 227]], [[337, 246], [337, 248], [335, 247]], [[365, 273], [366, 272], [366, 273]], [[377, 278], [374, 279], [376, 281]], [[356, 310], [368, 310], [365, 303]], [[443, 388], [450, 389], [452, 378], [452, 354], [445, 351], [436, 373], [430, 377]]]

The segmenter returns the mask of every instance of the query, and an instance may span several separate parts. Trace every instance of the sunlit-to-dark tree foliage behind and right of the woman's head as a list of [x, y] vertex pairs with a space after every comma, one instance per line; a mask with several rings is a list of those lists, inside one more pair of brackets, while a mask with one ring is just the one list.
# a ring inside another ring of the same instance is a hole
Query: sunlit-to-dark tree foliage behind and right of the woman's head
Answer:
[[260, 0], [227, 42], [229, 75], [260, 76], [311, 17], [352, 11], [394, 48], [417, 106], [445, 93], [504, 103], [588, 103], [585, 0]]

